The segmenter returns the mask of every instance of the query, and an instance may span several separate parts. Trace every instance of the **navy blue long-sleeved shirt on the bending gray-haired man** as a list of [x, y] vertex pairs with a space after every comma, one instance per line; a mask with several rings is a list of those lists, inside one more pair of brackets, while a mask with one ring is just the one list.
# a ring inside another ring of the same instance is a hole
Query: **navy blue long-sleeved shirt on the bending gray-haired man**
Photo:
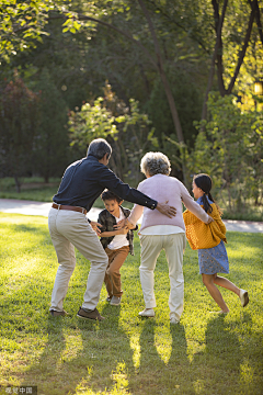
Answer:
[[151, 210], [155, 210], [158, 203], [124, 183], [92, 155], [71, 163], [66, 169], [53, 201], [57, 204], [84, 207], [89, 212], [105, 188], [123, 200]]

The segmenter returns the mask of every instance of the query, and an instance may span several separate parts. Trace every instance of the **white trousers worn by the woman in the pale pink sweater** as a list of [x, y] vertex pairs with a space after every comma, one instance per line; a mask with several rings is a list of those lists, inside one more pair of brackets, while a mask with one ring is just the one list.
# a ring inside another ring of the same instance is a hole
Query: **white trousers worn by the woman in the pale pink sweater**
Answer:
[[157, 258], [164, 249], [170, 278], [170, 317], [174, 316], [180, 319], [184, 300], [183, 252], [186, 246], [185, 234], [141, 235], [140, 245], [141, 263], [139, 270], [146, 308], [152, 308], [157, 305], [153, 291], [153, 271]]

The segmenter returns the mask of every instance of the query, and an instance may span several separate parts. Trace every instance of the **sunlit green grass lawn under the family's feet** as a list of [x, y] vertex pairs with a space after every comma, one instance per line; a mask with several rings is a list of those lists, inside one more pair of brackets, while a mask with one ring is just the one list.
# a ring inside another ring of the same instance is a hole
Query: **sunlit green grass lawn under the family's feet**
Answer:
[[106, 319], [96, 323], [76, 316], [90, 267], [78, 252], [65, 300], [70, 316], [48, 315], [57, 261], [47, 218], [0, 214], [0, 229], [2, 386], [37, 385], [38, 395], [263, 393], [262, 234], [228, 234], [228, 278], [249, 290], [250, 303], [242, 308], [222, 290], [227, 316], [209, 313], [219, 308], [202, 283], [197, 252], [187, 247], [184, 313], [170, 326], [164, 253], [156, 268], [156, 317], [138, 317], [137, 236], [135, 257], [122, 268], [122, 305], [110, 306], [103, 286], [98, 307]]

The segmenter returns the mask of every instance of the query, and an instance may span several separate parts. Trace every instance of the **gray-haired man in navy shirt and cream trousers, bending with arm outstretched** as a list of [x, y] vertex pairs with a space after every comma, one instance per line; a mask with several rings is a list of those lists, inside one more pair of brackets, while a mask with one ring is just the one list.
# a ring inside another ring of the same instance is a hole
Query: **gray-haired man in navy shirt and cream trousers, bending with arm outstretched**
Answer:
[[87, 157], [71, 163], [66, 169], [58, 192], [53, 199], [54, 203], [48, 214], [48, 227], [59, 263], [49, 308], [53, 316], [67, 314], [62, 308], [62, 302], [76, 266], [76, 247], [91, 262], [84, 302], [77, 316], [88, 319], [104, 319], [98, 312], [96, 305], [108, 259], [96, 233], [92, 229], [92, 225], [96, 224], [90, 223], [85, 214], [105, 188], [123, 200], [150, 210], [158, 210], [169, 217], [176, 213], [174, 207], [157, 202], [123, 183], [106, 167], [111, 154], [112, 147], [106, 140], [98, 138], [91, 142]]

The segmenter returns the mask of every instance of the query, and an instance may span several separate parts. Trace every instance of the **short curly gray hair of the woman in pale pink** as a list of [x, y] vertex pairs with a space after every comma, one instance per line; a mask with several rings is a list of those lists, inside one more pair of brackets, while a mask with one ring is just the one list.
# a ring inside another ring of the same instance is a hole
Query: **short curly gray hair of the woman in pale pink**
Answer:
[[169, 176], [171, 163], [168, 157], [162, 153], [147, 153], [140, 161], [140, 171], [150, 177], [155, 174]]

